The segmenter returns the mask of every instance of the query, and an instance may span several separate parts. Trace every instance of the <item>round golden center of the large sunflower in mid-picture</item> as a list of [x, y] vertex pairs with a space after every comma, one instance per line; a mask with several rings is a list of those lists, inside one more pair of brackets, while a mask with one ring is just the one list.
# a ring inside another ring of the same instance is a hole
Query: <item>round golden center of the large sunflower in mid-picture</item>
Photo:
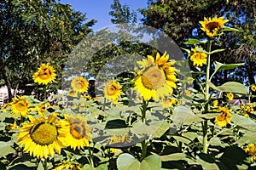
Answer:
[[152, 66], [143, 73], [142, 82], [145, 88], [158, 89], [166, 82], [166, 76], [157, 66]]

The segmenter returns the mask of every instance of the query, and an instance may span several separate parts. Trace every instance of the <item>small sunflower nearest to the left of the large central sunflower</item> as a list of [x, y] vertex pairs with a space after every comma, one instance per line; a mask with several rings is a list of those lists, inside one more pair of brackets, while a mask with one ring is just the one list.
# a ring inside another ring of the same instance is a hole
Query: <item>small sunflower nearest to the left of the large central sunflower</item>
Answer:
[[113, 104], [118, 103], [118, 99], [122, 93], [122, 86], [115, 81], [107, 82], [104, 86], [104, 97], [108, 100], [112, 100]]

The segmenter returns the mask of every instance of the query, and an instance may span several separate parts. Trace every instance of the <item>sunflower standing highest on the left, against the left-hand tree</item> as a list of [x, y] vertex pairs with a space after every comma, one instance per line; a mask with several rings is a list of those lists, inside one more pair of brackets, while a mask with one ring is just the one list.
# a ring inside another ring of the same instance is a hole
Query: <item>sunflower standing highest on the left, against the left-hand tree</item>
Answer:
[[47, 85], [50, 82], [55, 82], [55, 70], [49, 63], [42, 64], [38, 71], [34, 73], [33, 80], [34, 82], [38, 82], [38, 84]]

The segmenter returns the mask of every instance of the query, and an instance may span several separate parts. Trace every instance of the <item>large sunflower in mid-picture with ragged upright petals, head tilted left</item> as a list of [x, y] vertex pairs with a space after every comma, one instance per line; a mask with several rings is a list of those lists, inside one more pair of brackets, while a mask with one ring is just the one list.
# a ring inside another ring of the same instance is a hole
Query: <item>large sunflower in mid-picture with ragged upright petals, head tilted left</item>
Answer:
[[156, 59], [148, 55], [148, 59], [137, 62], [143, 69], [137, 71], [138, 76], [133, 80], [134, 88], [144, 100], [159, 101], [160, 98], [172, 94], [173, 88], [177, 87], [175, 69], [171, 66], [173, 62], [167, 62], [168, 59], [169, 55], [164, 54], [160, 57], [160, 54], [157, 54]]

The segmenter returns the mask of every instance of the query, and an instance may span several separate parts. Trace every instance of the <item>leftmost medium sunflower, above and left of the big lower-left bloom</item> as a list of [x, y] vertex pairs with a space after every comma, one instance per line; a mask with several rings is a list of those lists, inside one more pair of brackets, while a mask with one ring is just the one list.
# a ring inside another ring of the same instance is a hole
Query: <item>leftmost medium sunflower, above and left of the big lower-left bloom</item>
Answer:
[[29, 112], [29, 105], [25, 97], [16, 96], [11, 103], [11, 112], [15, 116], [26, 116]]

